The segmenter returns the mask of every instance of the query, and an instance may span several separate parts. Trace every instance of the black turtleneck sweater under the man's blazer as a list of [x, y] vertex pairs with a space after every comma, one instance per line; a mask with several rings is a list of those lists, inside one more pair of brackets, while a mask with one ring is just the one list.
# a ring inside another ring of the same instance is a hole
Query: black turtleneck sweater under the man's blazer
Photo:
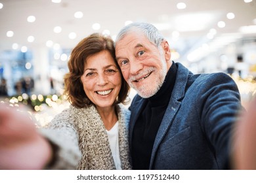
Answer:
[[144, 109], [135, 123], [131, 147], [134, 169], [149, 169], [153, 144], [169, 104], [176, 75], [177, 67], [173, 62], [167, 72], [163, 86], [161, 86], [156, 95], [146, 99]]

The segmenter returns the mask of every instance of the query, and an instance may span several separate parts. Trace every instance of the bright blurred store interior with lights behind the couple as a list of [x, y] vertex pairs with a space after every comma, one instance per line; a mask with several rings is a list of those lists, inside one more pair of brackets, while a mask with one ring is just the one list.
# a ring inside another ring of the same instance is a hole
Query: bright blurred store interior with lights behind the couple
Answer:
[[255, 95], [256, 0], [0, 0], [0, 101], [51, 120], [68, 106], [72, 48], [93, 32], [115, 39], [130, 22], [156, 25], [193, 73], [232, 76], [244, 106]]

